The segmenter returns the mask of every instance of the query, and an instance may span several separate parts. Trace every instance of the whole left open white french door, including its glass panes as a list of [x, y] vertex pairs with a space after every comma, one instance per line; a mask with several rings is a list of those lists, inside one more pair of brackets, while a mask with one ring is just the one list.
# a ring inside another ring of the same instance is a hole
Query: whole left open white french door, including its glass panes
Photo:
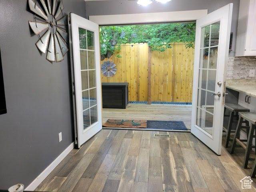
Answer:
[[73, 13], [69, 19], [76, 106], [75, 143], [80, 148], [102, 129], [99, 26]]

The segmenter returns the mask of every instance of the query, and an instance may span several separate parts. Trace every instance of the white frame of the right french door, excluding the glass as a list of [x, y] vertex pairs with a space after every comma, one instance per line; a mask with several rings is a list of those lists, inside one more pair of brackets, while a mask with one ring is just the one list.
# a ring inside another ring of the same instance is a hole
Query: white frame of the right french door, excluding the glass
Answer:
[[[216, 154], [221, 154], [221, 144], [222, 144], [222, 126], [223, 126], [223, 114], [224, 114], [224, 102], [226, 88], [226, 68], [228, 61], [228, 48], [230, 40], [230, 30], [231, 30], [231, 19], [232, 19], [232, 8], [233, 4], [228, 4], [210, 14], [210, 17], [214, 18], [209, 23], [209, 18], [201, 18], [196, 22], [196, 43], [195, 43], [195, 55], [194, 55], [194, 81], [193, 81], [193, 98], [192, 98], [192, 118], [191, 118], [191, 133], [199, 138], [204, 144], [211, 148]], [[227, 14], [220, 14], [220, 13]], [[225, 15], [225, 16], [222, 16]], [[201, 43], [201, 28], [208, 26], [209, 24], [220, 21], [220, 36], [219, 36], [219, 48], [218, 53], [226, 53], [224, 56], [218, 54], [218, 63], [217, 63], [217, 74], [216, 82], [221, 81], [222, 86], [215, 85], [215, 92], [220, 92], [221, 97], [215, 96], [214, 102], [214, 120], [213, 120], [213, 133], [210, 135], [206, 131], [202, 130], [199, 126], [196, 125], [196, 114], [197, 114], [197, 98], [198, 98], [198, 69], [200, 64], [200, 43]], [[207, 24], [206, 24], [207, 23]], [[228, 26], [228, 28], [224, 26]], [[223, 28], [222, 28], [223, 27]], [[226, 41], [222, 41], [226, 39]], [[224, 64], [224, 68], [220, 68], [220, 65]], [[217, 143], [218, 141], [218, 143]]]

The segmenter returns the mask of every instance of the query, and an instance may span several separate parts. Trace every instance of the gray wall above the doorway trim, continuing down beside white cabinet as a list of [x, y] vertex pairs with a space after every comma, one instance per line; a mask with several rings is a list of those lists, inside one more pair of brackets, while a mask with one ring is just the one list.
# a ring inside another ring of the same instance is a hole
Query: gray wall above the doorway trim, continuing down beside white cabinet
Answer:
[[111, 15], [111, 14], [132, 14], [132, 13], [148, 13], [148, 12], [168, 12], [168, 11], [184, 11], [208, 9], [208, 13], [233, 3], [232, 27], [233, 32], [233, 51], [230, 56], [234, 56], [236, 48], [236, 30], [238, 22], [240, 0], [172, 0], [166, 4], [152, 3], [149, 6], [139, 6], [136, 1], [128, 0], [109, 0], [86, 2], [86, 16], [90, 15]]

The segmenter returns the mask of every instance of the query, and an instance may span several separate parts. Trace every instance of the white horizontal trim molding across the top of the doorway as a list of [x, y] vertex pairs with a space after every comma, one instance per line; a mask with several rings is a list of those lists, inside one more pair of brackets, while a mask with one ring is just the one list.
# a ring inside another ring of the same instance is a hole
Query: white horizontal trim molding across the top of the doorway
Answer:
[[99, 25], [118, 25], [118, 24], [142, 24], [156, 22], [184, 22], [195, 21], [206, 16], [207, 9], [172, 11], [157, 13], [136, 13], [136, 14], [117, 14], [117, 15], [94, 15], [89, 16], [89, 20]]

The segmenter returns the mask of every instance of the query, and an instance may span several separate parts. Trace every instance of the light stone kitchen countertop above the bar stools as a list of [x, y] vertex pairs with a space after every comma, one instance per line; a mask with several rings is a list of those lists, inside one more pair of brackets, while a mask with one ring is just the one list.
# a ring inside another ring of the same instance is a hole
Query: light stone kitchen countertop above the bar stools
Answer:
[[256, 79], [227, 79], [226, 88], [256, 97]]

